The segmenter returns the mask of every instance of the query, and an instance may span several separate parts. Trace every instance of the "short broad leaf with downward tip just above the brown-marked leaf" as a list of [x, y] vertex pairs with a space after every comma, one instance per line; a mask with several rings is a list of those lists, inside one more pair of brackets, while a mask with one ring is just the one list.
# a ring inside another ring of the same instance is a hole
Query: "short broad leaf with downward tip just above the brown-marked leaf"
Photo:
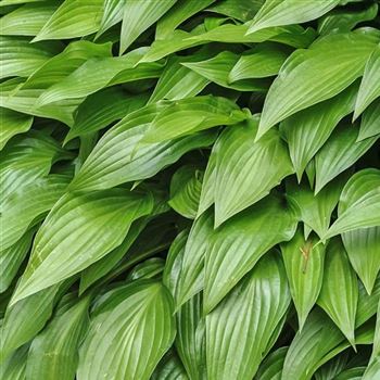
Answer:
[[300, 220], [305, 224], [305, 227], [314, 230], [319, 238], [329, 229], [331, 214], [339, 202], [346, 179], [347, 176], [342, 174], [316, 195], [305, 182], [297, 185], [295, 179], [286, 182], [287, 199], [299, 213]]

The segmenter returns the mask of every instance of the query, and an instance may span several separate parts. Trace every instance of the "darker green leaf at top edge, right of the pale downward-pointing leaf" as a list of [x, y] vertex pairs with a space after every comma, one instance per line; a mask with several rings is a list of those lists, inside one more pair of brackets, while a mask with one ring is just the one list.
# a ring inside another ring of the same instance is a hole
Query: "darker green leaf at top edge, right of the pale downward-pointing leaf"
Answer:
[[187, 1], [179, 0], [159, 20], [155, 29], [155, 39], [167, 38], [178, 25], [211, 5], [215, 0]]

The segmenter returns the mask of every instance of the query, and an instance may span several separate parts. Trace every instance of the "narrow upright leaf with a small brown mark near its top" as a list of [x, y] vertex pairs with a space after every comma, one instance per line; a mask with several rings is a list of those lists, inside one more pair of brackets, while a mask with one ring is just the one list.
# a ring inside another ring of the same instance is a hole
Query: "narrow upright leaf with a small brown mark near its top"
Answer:
[[299, 228], [290, 242], [281, 244], [282, 259], [299, 316], [300, 330], [322, 286], [325, 245], [315, 245], [316, 242], [313, 237], [305, 241]]

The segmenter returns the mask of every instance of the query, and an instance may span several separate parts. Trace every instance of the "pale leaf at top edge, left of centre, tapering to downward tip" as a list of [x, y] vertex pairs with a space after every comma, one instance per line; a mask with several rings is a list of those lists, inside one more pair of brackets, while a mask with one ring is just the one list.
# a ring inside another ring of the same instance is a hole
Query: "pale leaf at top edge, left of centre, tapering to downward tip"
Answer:
[[121, 54], [157, 20], [160, 20], [177, 0], [134, 1], [126, 0], [121, 34]]

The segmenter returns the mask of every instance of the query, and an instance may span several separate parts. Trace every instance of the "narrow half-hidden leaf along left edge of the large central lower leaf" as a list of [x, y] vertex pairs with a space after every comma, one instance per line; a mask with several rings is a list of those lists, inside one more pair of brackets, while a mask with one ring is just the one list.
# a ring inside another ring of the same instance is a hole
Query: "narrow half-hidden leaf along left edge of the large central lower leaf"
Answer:
[[208, 210], [193, 221], [181, 262], [176, 294], [177, 307], [204, 287], [204, 256], [213, 236], [213, 212]]

